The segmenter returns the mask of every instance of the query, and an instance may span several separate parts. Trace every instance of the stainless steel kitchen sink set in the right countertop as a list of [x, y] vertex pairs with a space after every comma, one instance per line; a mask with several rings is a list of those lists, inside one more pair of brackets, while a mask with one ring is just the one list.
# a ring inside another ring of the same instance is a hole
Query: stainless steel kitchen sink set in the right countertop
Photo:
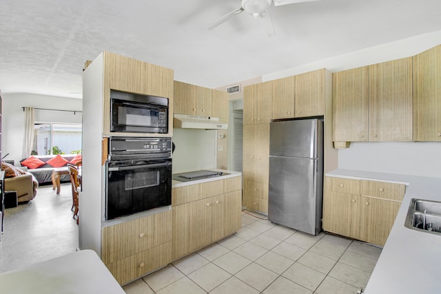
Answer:
[[441, 235], [441, 202], [413, 198], [404, 226]]

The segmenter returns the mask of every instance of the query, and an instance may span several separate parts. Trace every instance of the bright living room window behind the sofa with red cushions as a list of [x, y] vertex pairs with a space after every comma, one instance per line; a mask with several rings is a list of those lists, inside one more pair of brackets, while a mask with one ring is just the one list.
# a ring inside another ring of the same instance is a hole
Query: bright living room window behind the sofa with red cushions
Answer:
[[81, 154], [79, 123], [35, 123], [32, 154]]

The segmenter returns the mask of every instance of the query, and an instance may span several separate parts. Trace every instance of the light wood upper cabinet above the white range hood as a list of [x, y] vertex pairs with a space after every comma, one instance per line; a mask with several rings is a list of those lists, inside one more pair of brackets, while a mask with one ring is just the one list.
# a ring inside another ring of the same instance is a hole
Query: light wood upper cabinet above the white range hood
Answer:
[[227, 120], [228, 93], [174, 81], [174, 113]]

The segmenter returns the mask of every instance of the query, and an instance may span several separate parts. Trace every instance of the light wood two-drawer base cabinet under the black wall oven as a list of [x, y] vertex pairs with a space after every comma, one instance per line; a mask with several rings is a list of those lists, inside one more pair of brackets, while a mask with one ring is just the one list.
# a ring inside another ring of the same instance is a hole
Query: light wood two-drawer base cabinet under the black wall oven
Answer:
[[172, 211], [104, 227], [101, 259], [120, 284], [172, 261]]

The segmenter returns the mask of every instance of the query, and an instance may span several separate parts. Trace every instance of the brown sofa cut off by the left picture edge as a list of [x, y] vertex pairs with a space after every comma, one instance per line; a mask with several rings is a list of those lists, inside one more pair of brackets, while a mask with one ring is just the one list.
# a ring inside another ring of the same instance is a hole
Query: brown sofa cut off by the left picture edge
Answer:
[[5, 191], [17, 191], [17, 202], [29, 202], [37, 196], [39, 182], [32, 174], [3, 161], [1, 170], [5, 171]]

